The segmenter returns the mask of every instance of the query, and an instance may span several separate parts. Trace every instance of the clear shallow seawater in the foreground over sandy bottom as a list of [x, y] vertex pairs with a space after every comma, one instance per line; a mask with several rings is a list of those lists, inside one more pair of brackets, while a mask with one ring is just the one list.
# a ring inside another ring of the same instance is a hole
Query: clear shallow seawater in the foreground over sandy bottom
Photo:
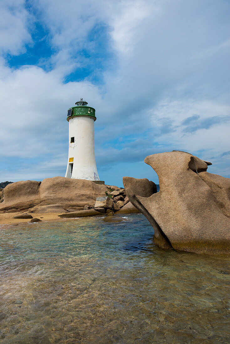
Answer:
[[227, 343], [229, 259], [163, 251], [141, 214], [0, 226], [1, 343]]

